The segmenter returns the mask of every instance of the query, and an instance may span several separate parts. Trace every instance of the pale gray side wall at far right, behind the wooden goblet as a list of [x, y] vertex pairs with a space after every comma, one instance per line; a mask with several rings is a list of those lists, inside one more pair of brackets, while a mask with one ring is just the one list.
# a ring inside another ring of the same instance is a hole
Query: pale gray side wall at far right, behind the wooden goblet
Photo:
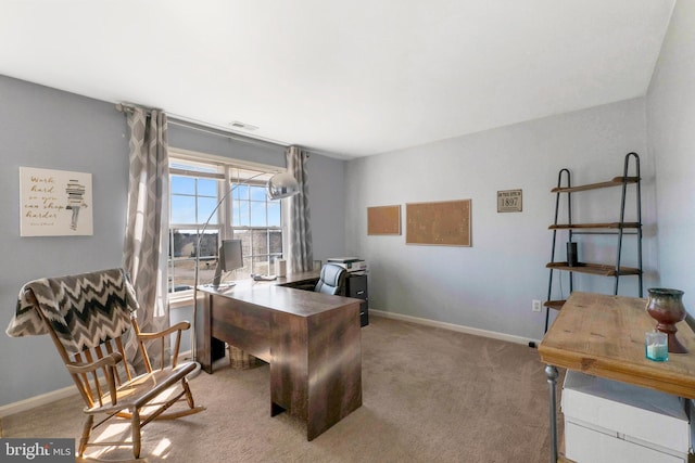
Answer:
[[656, 160], [661, 285], [695, 313], [695, 2], [675, 3], [647, 97]]

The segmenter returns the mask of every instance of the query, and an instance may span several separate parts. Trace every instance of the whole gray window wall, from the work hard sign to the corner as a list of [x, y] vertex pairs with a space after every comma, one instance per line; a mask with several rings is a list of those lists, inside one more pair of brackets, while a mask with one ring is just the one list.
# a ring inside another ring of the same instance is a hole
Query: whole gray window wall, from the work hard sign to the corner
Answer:
[[[17, 293], [29, 280], [122, 265], [128, 137], [125, 117], [113, 103], [0, 76], [2, 323], [10, 321]], [[282, 147], [230, 141], [175, 125], [169, 125], [169, 145], [286, 166]], [[20, 166], [91, 172], [93, 235], [20, 237]], [[316, 255], [343, 255], [344, 162], [312, 154], [308, 175]], [[190, 310], [177, 309], [172, 318], [190, 319]], [[0, 351], [0, 406], [72, 384], [48, 336], [2, 335]]]

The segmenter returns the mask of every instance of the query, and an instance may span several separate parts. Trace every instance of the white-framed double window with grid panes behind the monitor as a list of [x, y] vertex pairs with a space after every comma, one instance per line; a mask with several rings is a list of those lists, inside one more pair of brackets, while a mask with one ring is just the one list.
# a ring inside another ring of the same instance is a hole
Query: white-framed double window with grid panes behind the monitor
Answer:
[[214, 276], [223, 239], [242, 240], [243, 249], [243, 268], [227, 280], [273, 273], [275, 260], [282, 257], [280, 201], [266, 194], [266, 182], [275, 171], [175, 155], [169, 170], [169, 293], [193, 288], [199, 237], [201, 284]]

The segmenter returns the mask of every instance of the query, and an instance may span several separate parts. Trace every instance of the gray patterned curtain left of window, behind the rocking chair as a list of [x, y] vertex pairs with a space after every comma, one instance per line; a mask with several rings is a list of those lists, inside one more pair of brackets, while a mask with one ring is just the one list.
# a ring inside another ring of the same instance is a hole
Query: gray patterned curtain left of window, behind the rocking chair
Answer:
[[[141, 107], [126, 114], [130, 129], [130, 179], [124, 268], [130, 274], [140, 305], [137, 313], [140, 330], [156, 332], [169, 324], [166, 304], [169, 226], [166, 114]], [[148, 347], [152, 358], [156, 358], [159, 343]], [[128, 357], [136, 369], [140, 369], [141, 359], [135, 348], [132, 343], [128, 345]]]

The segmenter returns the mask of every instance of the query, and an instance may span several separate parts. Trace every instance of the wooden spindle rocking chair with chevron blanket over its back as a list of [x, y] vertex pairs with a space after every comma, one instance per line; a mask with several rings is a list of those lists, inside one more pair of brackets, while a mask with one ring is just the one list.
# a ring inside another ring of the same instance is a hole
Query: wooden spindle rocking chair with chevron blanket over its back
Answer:
[[[77, 450], [80, 459], [90, 446], [132, 446], [138, 459], [144, 425], [205, 410], [195, 407], [186, 378], [195, 363], [177, 362], [181, 332], [190, 323], [180, 322], [160, 333], [141, 333], [135, 318], [137, 307], [135, 291], [122, 269], [36, 280], [20, 293], [7, 332], [11, 336], [49, 333], [53, 338], [86, 403], [87, 419]], [[174, 333], [172, 364], [166, 366], [164, 339]], [[126, 360], [124, 345], [129, 335], [136, 336], [143, 359], [146, 372], [140, 375]], [[153, 339], [161, 343], [157, 369], [152, 368], [144, 346]], [[173, 389], [177, 384], [180, 390]], [[178, 401], [186, 401], [188, 407], [167, 411]], [[131, 441], [90, 442], [91, 430], [112, 417], [130, 421]]]

